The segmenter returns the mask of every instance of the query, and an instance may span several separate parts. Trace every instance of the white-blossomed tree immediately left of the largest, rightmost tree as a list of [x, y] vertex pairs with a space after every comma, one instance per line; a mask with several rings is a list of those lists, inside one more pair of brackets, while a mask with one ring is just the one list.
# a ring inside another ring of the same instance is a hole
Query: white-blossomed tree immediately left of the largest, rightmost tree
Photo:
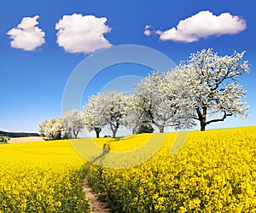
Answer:
[[181, 119], [182, 100], [177, 97], [180, 88], [175, 88], [172, 85], [172, 89], [168, 87], [168, 94], [166, 94], [169, 83], [166, 82], [165, 74], [152, 72], [137, 84], [133, 101], [127, 112], [127, 116], [133, 120], [133, 124], [139, 126], [140, 122], [146, 120], [157, 126], [160, 132], [164, 132], [168, 126], [172, 126], [174, 129], [187, 126], [187, 120]]

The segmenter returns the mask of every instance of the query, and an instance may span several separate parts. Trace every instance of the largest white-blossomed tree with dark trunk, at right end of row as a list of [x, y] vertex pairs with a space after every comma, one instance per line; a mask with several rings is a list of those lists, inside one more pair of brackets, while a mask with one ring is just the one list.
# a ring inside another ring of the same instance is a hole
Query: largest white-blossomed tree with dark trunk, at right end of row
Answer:
[[246, 90], [238, 83], [238, 77], [249, 72], [247, 60], [242, 60], [244, 53], [221, 57], [212, 49], [203, 49], [179, 65], [195, 110], [192, 118], [200, 122], [201, 131], [233, 115], [247, 117], [248, 105], [241, 101]]

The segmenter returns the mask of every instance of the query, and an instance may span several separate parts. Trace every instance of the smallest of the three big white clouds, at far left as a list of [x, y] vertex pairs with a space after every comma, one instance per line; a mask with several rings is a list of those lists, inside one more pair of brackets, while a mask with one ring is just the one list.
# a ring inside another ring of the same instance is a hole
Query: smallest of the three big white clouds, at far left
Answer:
[[12, 48], [32, 51], [45, 43], [45, 33], [37, 26], [38, 18], [38, 15], [24, 17], [18, 26], [7, 32], [12, 39], [10, 43]]

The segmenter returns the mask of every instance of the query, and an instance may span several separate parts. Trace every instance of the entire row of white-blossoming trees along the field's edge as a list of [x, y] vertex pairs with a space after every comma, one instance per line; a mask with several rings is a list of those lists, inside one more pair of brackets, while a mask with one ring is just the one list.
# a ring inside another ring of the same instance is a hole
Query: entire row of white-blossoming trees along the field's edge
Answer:
[[166, 127], [189, 129], [196, 121], [201, 131], [230, 116], [247, 118], [248, 104], [242, 101], [246, 90], [239, 76], [249, 72], [244, 52], [218, 56], [212, 49], [191, 54], [189, 60], [169, 72], [152, 72], [137, 84], [133, 94], [108, 91], [92, 95], [82, 111], [66, 112], [39, 124], [47, 139], [77, 137], [82, 129], [99, 137], [108, 126], [113, 137], [126, 127], [137, 133], [142, 125], [153, 125], [160, 132]]

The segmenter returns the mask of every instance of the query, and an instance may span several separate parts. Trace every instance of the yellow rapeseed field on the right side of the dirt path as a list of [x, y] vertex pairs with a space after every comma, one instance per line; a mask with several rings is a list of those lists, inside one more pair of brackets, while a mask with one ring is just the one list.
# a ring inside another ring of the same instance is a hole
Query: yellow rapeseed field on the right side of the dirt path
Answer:
[[[90, 183], [116, 212], [256, 212], [256, 127], [190, 132], [170, 155], [176, 135], [135, 167], [91, 166]], [[109, 143], [126, 150], [122, 140]]]

